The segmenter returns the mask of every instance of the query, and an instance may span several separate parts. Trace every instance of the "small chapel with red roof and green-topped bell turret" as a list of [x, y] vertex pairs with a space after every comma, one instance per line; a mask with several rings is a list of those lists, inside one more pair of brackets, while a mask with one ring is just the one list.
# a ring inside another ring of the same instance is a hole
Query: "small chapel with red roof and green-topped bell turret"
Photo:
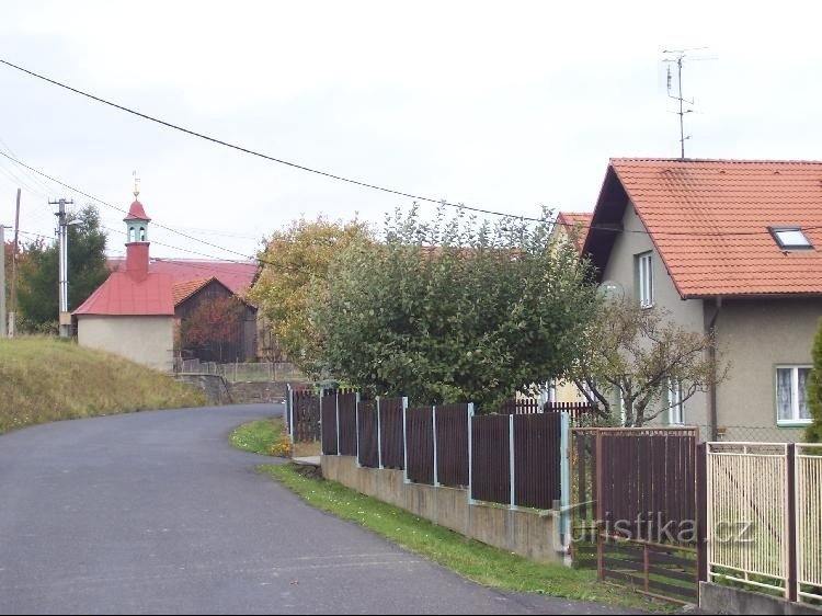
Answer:
[[172, 278], [149, 271], [148, 224], [135, 201], [124, 218], [127, 230], [124, 271], [113, 272], [72, 312], [78, 342], [117, 353], [159, 370], [172, 368], [174, 301]]

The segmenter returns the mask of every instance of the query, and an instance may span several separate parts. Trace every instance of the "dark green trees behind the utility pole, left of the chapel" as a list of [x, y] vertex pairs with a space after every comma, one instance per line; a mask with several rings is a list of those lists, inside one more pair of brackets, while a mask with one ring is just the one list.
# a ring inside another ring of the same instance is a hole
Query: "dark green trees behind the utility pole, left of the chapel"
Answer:
[[[68, 308], [73, 310], [109, 276], [105, 261], [105, 233], [100, 228], [100, 213], [88, 205], [68, 216]], [[56, 330], [59, 311], [59, 250], [42, 240], [26, 247], [26, 259], [20, 263], [18, 303], [23, 324], [38, 331]]]

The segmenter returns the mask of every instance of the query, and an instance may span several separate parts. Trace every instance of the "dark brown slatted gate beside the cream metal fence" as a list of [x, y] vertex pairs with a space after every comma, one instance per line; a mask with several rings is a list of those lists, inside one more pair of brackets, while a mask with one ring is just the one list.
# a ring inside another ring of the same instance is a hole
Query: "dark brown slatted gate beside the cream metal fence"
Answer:
[[[698, 593], [697, 429], [576, 429], [572, 554], [602, 581], [682, 603]], [[587, 549], [585, 549], [587, 540]]]

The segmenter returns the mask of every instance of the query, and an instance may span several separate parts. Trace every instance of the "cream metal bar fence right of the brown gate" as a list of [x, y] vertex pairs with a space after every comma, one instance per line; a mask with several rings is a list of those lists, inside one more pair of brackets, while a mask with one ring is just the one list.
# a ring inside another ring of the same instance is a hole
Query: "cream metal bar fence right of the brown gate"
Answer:
[[708, 443], [708, 578], [822, 600], [822, 445]]

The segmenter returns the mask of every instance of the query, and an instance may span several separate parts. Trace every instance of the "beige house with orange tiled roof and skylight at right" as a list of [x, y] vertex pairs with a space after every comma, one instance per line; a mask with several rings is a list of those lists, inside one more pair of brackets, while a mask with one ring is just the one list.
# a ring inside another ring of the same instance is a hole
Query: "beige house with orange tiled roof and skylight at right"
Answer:
[[610, 160], [583, 250], [612, 290], [713, 336], [727, 379], [672, 424], [801, 440], [822, 316], [822, 162]]

